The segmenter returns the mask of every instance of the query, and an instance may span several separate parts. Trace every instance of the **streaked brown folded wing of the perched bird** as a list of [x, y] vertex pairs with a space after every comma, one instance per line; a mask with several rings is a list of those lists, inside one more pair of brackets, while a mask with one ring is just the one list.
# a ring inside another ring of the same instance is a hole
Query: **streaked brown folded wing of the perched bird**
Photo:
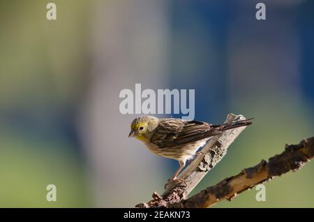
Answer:
[[158, 147], [174, 147], [208, 138], [211, 124], [182, 119], [160, 119], [151, 142]]

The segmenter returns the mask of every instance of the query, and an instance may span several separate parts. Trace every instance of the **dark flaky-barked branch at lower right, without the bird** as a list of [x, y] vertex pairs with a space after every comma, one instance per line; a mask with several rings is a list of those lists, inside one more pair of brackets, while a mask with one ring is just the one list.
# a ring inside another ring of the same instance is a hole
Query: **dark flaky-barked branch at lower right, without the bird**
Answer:
[[289, 171], [299, 170], [306, 162], [314, 157], [314, 137], [302, 140], [299, 145], [285, 147], [282, 154], [262, 160], [253, 168], [242, 170], [239, 175], [223, 179], [215, 186], [210, 186], [188, 200], [182, 200], [167, 207], [211, 207], [220, 200], [232, 200], [239, 193], [257, 184], [268, 182], [275, 176]]

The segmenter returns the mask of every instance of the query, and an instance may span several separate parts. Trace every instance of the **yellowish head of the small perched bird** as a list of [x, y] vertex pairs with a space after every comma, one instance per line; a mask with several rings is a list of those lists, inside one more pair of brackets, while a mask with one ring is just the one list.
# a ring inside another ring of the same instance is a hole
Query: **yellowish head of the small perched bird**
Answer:
[[155, 128], [158, 126], [158, 118], [151, 116], [137, 117], [130, 124], [129, 138], [136, 137], [139, 140], [147, 140], [154, 133]]

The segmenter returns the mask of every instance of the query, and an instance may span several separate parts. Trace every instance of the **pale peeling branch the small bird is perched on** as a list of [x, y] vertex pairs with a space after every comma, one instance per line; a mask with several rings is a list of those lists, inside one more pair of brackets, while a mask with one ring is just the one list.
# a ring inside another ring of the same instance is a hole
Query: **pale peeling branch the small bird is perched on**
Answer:
[[[228, 114], [225, 123], [245, 119], [242, 115]], [[140, 203], [135, 207], [168, 207], [184, 200], [190, 191], [207, 175], [207, 172], [221, 161], [227, 153], [227, 148], [244, 131], [244, 127], [233, 128], [224, 131], [222, 134], [212, 137], [197, 155], [188, 167], [181, 172], [179, 178], [184, 179], [184, 183], [170, 182], [165, 185], [165, 191], [162, 195], [154, 192], [153, 200], [148, 203]]]

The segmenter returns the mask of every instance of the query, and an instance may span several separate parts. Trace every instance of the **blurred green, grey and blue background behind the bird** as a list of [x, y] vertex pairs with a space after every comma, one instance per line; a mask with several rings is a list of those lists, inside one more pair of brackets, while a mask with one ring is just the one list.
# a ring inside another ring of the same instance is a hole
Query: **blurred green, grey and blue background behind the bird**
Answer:
[[[195, 119], [255, 117], [195, 192], [314, 133], [314, 1], [0, 1], [0, 207], [133, 207], [178, 168], [128, 138], [119, 92], [195, 89]], [[178, 117], [178, 116], [176, 116]], [[215, 207], [314, 207], [314, 164]], [[57, 186], [47, 202], [46, 186]], [[193, 194], [192, 193], [192, 194]]]

